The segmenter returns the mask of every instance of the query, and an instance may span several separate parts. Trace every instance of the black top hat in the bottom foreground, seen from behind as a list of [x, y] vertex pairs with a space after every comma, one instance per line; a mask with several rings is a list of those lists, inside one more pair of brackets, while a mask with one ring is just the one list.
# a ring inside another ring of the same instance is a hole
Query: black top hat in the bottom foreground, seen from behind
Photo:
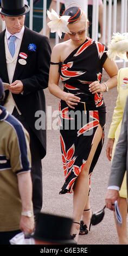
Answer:
[[73, 220], [50, 214], [36, 215], [35, 232], [30, 237], [57, 244], [76, 244], [70, 235]]

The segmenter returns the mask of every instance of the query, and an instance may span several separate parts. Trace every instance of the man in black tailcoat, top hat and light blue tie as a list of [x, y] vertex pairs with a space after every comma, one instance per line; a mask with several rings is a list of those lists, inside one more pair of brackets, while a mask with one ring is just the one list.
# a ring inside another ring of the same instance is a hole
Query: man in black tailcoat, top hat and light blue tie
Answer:
[[2, 0], [1, 4], [0, 13], [6, 25], [0, 33], [0, 77], [7, 89], [4, 106], [29, 132], [36, 215], [42, 208], [41, 159], [46, 155], [46, 130], [36, 129], [35, 113], [45, 112], [43, 89], [48, 86], [51, 49], [46, 36], [24, 26], [29, 7], [23, 0]]

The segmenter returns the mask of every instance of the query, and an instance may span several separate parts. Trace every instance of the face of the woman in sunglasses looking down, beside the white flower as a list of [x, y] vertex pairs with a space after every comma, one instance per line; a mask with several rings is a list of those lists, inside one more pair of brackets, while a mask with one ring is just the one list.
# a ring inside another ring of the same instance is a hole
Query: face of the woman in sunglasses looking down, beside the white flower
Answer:
[[73, 24], [68, 25], [69, 38], [74, 42], [75, 45], [81, 45], [82, 42], [86, 40], [86, 23], [85, 22], [75, 22]]

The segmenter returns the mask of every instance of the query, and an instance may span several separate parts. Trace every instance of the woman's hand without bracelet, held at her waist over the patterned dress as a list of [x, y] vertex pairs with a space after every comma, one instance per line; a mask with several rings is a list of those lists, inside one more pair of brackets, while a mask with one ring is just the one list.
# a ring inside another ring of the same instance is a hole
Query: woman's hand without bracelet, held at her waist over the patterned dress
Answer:
[[75, 108], [74, 106], [78, 105], [77, 102], [80, 102], [80, 97], [77, 97], [72, 93], [63, 92], [63, 96], [62, 100], [66, 101], [68, 107]]

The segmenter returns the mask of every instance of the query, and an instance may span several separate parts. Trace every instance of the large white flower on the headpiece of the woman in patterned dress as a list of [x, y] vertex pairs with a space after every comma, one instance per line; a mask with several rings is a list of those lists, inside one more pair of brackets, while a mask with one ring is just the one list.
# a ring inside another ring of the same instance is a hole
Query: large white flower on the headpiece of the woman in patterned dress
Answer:
[[57, 32], [57, 34], [60, 36], [62, 36], [62, 32], [63, 33], [70, 33], [67, 25], [68, 25], [68, 20], [71, 16], [59, 16], [56, 11], [54, 11], [52, 9], [51, 13], [50, 11], [47, 10], [47, 15], [49, 17], [49, 19], [51, 20], [50, 22], [48, 22], [48, 27], [50, 28], [50, 32], [54, 33]]

